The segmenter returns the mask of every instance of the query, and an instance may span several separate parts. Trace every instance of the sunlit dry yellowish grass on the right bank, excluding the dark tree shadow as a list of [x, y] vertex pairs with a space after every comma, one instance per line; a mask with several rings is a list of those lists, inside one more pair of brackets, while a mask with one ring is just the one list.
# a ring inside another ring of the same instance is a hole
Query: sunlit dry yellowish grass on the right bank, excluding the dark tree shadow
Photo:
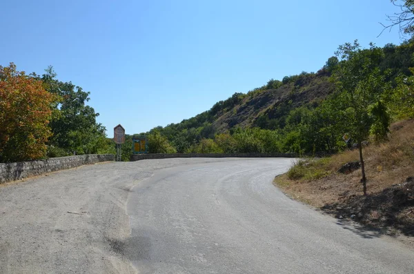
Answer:
[[[383, 195], [386, 188], [402, 184], [407, 177], [413, 177], [414, 120], [393, 124], [389, 141], [371, 144], [364, 148], [363, 153], [368, 179], [368, 195], [371, 197], [380, 195], [380, 193]], [[357, 160], [359, 160], [357, 150], [346, 151], [330, 158], [304, 159], [297, 162], [285, 175], [275, 178], [275, 184], [291, 197], [319, 208], [329, 208], [330, 213], [334, 214], [331, 211], [333, 205], [343, 208], [349, 207], [349, 203], [352, 202], [355, 206], [355, 203], [364, 199], [362, 184], [359, 182], [362, 177], [361, 170], [348, 175], [337, 173], [342, 165]], [[381, 211], [375, 211], [375, 204], [371, 203], [370, 206], [372, 210], [369, 215], [362, 218], [364, 224], [378, 224], [378, 226], [384, 224], [381, 223], [381, 219], [388, 214], [386, 208], [382, 207]], [[390, 206], [395, 207], [391, 204]], [[405, 219], [405, 224], [411, 224], [410, 220], [412, 220], [414, 225], [414, 211], [407, 206], [400, 208], [400, 211], [393, 212], [393, 215]]]

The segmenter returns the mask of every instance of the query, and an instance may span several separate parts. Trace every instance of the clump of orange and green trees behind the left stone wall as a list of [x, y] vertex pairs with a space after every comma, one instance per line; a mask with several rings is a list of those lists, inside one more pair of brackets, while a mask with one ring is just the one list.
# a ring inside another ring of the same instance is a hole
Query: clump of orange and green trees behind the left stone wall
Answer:
[[90, 92], [59, 81], [52, 67], [37, 75], [0, 66], [0, 162], [115, 153], [86, 105]]

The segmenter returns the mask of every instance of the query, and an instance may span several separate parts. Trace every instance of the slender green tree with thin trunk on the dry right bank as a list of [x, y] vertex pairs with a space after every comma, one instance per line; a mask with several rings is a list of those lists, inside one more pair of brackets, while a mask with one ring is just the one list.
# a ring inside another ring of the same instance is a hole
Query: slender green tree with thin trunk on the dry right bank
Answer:
[[366, 174], [362, 141], [368, 138], [374, 125], [378, 127], [377, 123], [382, 123], [380, 127], [383, 128], [377, 133], [385, 135], [390, 122], [386, 119], [386, 109], [378, 107], [382, 106], [382, 99], [389, 88], [379, 68], [384, 52], [372, 43], [370, 46], [363, 50], [357, 41], [339, 46], [336, 54], [341, 61], [333, 72], [337, 84], [338, 108], [343, 110], [348, 131], [358, 144], [364, 195]]

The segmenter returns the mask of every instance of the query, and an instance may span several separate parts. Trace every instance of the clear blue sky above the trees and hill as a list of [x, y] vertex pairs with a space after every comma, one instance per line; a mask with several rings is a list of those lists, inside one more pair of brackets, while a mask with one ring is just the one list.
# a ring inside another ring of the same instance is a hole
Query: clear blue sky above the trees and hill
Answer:
[[108, 137], [177, 123], [270, 78], [317, 71], [342, 43], [379, 38], [389, 0], [1, 1], [0, 65], [90, 91]]

